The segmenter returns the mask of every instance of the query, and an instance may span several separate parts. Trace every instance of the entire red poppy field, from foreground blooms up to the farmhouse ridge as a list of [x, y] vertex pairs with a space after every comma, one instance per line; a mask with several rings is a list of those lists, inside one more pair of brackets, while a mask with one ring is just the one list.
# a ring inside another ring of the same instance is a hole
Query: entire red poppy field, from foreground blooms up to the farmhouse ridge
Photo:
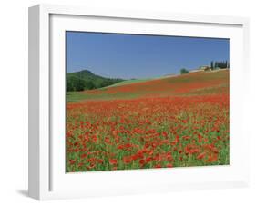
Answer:
[[230, 163], [229, 70], [67, 93], [66, 171]]

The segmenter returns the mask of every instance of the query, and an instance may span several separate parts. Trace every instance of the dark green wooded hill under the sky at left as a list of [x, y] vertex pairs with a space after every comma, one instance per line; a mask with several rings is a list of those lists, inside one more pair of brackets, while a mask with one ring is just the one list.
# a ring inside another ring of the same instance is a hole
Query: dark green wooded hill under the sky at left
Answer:
[[123, 82], [119, 78], [106, 78], [94, 74], [88, 70], [67, 73], [67, 91], [84, 91], [107, 87], [109, 85]]

